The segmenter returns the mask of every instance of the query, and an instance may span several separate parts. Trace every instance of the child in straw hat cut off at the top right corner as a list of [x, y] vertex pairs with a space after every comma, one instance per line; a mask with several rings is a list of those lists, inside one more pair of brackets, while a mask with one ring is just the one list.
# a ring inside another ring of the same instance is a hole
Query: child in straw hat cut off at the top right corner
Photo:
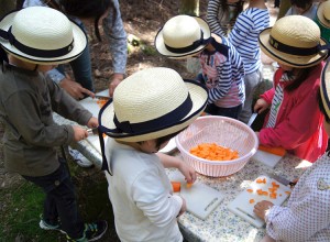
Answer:
[[319, 4], [315, 21], [321, 30], [321, 37], [330, 43], [330, 1]]

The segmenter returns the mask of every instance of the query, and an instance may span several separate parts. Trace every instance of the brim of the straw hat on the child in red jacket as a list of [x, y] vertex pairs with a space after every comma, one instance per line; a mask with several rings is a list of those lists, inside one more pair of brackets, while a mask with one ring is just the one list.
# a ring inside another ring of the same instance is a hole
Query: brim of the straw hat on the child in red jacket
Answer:
[[[327, 57], [328, 51], [320, 51], [318, 54], [309, 56], [296, 56], [289, 55], [284, 52], [279, 52], [274, 48], [268, 40], [272, 28], [263, 30], [258, 35], [258, 44], [261, 50], [271, 58], [279, 64], [284, 64], [292, 67], [304, 68], [315, 66]], [[326, 45], [326, 41], [320, 38], [320, 45]]]

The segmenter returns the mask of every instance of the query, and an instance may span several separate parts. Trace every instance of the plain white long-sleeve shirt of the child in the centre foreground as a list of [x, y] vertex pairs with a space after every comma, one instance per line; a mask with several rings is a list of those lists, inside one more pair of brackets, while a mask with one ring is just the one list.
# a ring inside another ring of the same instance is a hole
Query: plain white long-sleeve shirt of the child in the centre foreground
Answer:
[[156, 154], [146, 154], [108, 139], [106, 172], [116, 230], [121, 241], [180, 242], [177, 216], [183, 205]]

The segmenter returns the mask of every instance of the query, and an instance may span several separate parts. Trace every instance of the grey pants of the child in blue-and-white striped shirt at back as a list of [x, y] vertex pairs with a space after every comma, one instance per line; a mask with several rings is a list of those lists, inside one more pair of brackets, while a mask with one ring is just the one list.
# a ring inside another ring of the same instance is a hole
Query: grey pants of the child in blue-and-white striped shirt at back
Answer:
[[243, 109], [239, 116], [239, 120], [248, 123], [250, 117], [252, 116], [252, 102], [253, 102], [253, 97], [256, 87], [260, 85], [260, 82], [263, 80], [263, 75], [261, 70], [256, 70], [252, 74], [246, 74], [244, 76], [244, 84], [245, 84], [245, 101]]

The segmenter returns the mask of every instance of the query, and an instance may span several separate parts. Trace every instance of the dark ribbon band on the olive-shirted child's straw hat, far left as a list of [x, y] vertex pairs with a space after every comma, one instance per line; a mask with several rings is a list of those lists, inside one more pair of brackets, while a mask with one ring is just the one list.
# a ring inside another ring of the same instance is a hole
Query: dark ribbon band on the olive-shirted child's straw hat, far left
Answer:
[[11, 32], [11, 28], [8, 31], [0, 30], [0, 37], [2, 37], [3, 40], [7, 40], [12, 46], [14, 46], [20, 52], [22, 52], [26, 55], [32, 55], [32, 56], [41, 57], [41, 58], [62, 57], [62, 56], [70, 53], [70, 51], [74, 48], [74, 38], [73, 38], [72, 43], [69, 43], [68, 45], [66, 45], [62, 48], [38, 50], [38, 48], [30, 47], [30, 46], [24, 45], [23, 43], [19, 42], [15, 38], [15, 36]]

